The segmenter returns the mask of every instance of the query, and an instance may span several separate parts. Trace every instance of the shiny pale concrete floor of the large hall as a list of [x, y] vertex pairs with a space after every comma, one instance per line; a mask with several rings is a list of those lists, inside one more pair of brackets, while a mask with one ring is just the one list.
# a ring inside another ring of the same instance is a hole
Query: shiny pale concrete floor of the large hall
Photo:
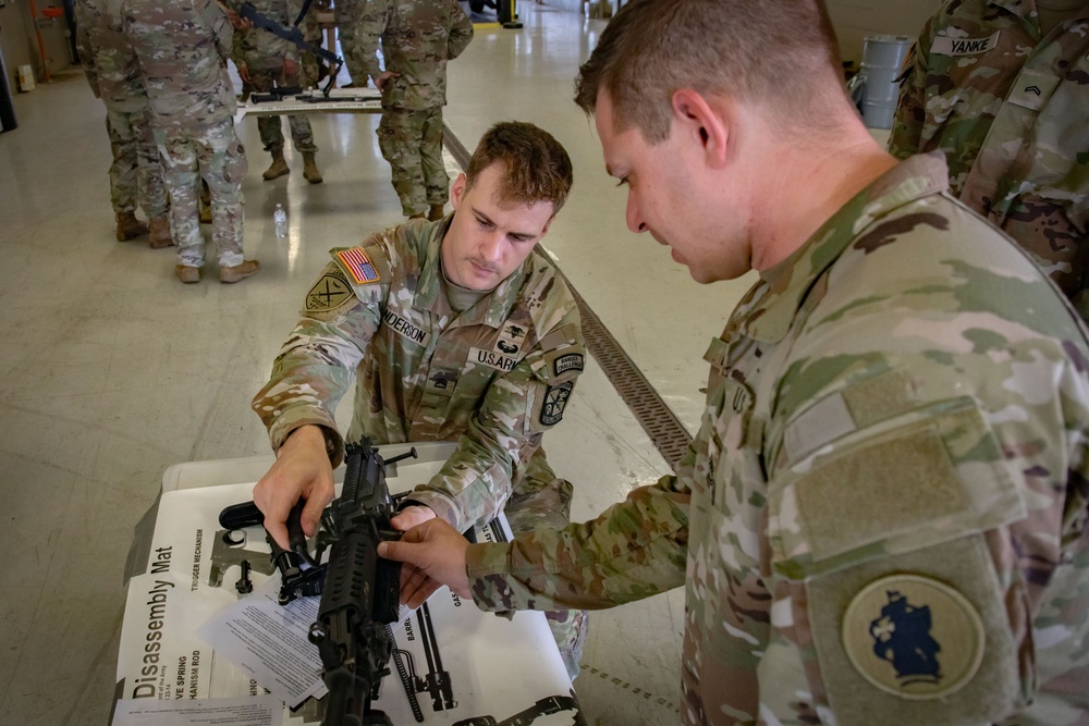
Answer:
[[[751, 283], [700, 286], [649, 236], [624, 225], [625, 193], [604, 172], [592, 123], [571, 101], [605, 21], [519, 3], [523, 29], [480, 26], [450, 66], [445, 121], [472, 149], [501, 119], [551, 131], [575, 186], [543, 246], [688, 428], [701, 357]], [[264, 182], [256, 122], [246, 254], [235, 285], [182, 285], [173, 250], [113, 238], [105, 109], [77, 69], [15, 98], [0, 134], [0, 724], [105, 724], [114, 690], [133, 526], [172, 464], [268, 453], [249, 401], [333, 246], [395, 223], [400, 205], [377, 116], [315, 115], [325, 183]], [[285, 128], [286, 131], [286, 128]], [[290, 234], [278, 239], [282, 202]], [[588, 518], [669, 467], [591, 359], [549, 459]], [[595, 613], [575, 687], [589, 724], [675, 723], [683, 593]]]

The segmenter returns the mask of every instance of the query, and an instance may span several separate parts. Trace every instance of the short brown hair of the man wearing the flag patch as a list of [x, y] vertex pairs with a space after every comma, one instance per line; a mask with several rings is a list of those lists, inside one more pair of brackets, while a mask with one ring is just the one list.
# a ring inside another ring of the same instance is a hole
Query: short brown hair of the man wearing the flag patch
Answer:
[[523, 121], [501, 121], [489, 128], [465, 170], [466, 188], [497, 162], [505, 169], [504, 201], [527, 206], [550, 201], [554, 213], [567, 200], [574, 180], [571, 157], [543, 128]]

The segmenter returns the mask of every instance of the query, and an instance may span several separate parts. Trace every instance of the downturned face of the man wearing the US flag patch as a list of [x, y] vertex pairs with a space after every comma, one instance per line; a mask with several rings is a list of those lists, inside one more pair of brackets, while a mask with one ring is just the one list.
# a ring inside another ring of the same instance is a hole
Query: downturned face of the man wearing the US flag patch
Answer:
[[442, 271], [455, 285], [493, 290], [526, 261], [552, 222], [549, 201], [504, 201], [502, 176], [501, 167], [492, 164], [473, 188], [461, 174], [450, 189], [454, 219], [442, 238]]

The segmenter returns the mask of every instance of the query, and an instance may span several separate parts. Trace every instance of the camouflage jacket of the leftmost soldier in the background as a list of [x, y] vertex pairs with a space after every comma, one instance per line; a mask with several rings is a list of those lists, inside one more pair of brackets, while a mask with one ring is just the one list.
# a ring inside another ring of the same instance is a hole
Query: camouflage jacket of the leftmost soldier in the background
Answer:
[[78, 0], [75, 3], [76, 49], [87, 83], [112, 109], [147, 108], [139, 61], [121, 25], [122, 0]]

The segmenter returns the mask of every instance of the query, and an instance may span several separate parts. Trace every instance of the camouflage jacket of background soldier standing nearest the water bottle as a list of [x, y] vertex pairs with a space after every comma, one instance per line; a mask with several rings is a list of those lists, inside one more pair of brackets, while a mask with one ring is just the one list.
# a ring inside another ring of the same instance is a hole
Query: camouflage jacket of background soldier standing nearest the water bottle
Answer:
[[234, 116], [227, 73], [233, 32], [215, 0], [124, 0], [122, 16], [157, 125], [200, 126]]

